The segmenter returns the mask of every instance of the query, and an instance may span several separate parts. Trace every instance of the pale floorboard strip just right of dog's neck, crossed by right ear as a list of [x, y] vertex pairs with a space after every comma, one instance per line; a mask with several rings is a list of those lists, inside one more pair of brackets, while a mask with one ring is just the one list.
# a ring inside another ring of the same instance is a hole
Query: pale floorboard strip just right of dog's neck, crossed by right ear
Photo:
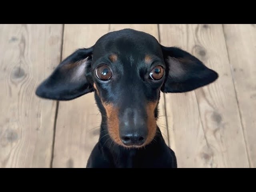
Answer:
[[[191, 28], [184, 24], [160, 24], [160, 43], [179, 46], [190, 52], [194, 47]], [[204, 138], [194, 91], [165, 94], [170, 147], [180, 168], [211, 167], [212, 158]]]

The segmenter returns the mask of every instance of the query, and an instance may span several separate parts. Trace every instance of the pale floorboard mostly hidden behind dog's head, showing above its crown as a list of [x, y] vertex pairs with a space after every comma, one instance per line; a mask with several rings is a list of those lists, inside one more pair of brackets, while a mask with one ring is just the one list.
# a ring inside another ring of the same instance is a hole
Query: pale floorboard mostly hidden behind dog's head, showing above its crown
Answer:
[[[158, 26], [157, 24], [110, 24], [110, 31], [121, 30], [125, 28], [131, 28], [138, 31], [143, 31], [151, 34], [158, 40]], [[157, 124], [162, 132], [166, 144], [168, 144], [168, 126], [166, 125], [165, 118], [165, 103], [164, 103], [164, 93], [161, 92], [160, 102], [159, 102], [159, 119]]]

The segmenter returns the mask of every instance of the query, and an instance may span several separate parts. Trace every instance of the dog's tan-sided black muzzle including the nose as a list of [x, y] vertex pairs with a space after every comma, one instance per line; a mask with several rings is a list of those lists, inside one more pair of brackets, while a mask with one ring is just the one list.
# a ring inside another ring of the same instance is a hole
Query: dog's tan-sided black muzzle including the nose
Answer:
[[126, 108], [125, 112], [122, 112], [126, 116], [120, 117], [120, 109], [114, 104], [106, 102], [102, 104], [106, 110], [108, 134], [113, 142], [125, 148], [142, 148], [152, 142], [157, 128], [154, 115], [157, 102], [148, 102], [145, 115], [140, 115], [137, 119], [135, 118], [137, 112], [133, 108]]

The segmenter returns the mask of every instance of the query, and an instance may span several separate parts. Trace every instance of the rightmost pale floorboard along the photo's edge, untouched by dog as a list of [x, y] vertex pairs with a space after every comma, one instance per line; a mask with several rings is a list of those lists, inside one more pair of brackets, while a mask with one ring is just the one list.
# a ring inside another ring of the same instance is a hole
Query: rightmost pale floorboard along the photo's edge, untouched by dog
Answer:
[[223, 25], [249, 165], [256, 168], [256, 25]]

